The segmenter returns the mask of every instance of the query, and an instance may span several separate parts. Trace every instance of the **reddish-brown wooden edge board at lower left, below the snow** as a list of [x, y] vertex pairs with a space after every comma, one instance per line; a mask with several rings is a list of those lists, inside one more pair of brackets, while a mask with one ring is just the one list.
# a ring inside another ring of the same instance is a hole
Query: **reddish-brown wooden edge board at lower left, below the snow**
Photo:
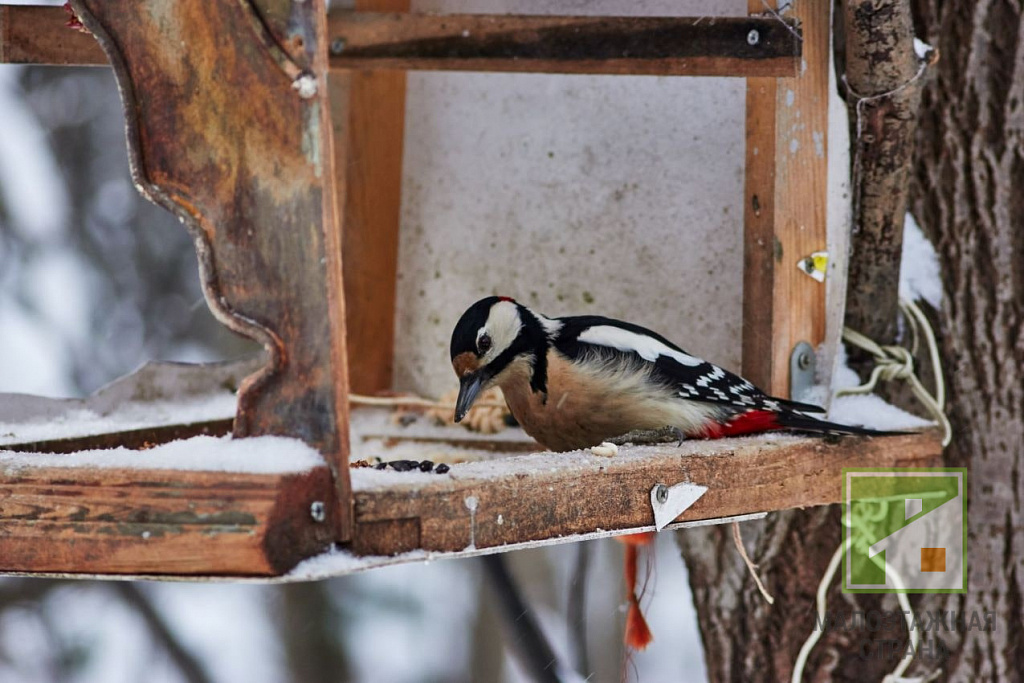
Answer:
[[327, 467], [286, 474], [0, 463], [0, 571], [278, 575], [326, 550]]

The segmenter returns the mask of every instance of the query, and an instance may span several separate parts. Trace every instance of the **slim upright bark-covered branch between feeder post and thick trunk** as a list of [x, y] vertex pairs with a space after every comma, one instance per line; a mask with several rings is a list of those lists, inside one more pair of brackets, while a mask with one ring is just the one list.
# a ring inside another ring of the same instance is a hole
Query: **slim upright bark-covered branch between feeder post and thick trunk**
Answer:
[[843, 6], [853, 152], [846, 324], [892, 344], [923, 62], [907, 0], [848, 0]]

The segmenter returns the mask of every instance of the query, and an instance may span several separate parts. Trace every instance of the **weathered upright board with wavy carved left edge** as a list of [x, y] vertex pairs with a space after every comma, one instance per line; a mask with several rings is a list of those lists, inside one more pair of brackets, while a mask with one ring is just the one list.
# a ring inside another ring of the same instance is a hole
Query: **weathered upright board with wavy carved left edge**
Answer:
[[196, 238], [214, 314], [268, 351], [239, 390], [234, 434], [301, 438], [348, 500], [324, 3], [73, 4], [114, 67], [136, 184]]

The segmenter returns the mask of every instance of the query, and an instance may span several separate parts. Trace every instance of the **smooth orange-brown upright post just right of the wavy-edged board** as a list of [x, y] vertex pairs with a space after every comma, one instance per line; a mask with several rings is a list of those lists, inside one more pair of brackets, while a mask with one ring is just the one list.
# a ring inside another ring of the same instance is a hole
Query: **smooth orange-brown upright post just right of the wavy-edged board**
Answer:
[[[406, 11], [409, 0], [356, 0], [357, 9]], [[344, 216], [345, 328], [356, 393], [391, 388], [401, 218], [406, 73], [332, 71], [338, 205]]]

